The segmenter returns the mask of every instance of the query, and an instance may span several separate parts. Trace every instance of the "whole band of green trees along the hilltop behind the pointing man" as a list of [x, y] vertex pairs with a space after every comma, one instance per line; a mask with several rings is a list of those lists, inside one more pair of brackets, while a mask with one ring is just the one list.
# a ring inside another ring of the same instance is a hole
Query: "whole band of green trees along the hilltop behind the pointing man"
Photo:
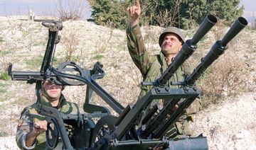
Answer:
[[[126, 8], [133, 0], [88, 0], [92, 6], [92, 21], [97, 25], [115, 23], [126, 28], [129, 16]], [[142, 25], [174, 25], [178, 28], [194, 28], [201, 24], [207, 14], [225, 20], [227, 25], [242, 15], [244, 7], [238, 8], [240, 0], [144, 0], [140, 1]]]

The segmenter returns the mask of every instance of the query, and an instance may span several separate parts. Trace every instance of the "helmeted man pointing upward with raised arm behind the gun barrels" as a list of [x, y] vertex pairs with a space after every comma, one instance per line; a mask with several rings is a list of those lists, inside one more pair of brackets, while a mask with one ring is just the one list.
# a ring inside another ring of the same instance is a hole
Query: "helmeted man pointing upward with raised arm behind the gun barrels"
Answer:
[[[181, 30], [176, 27], [168, 27], [159, 37], [159, 46], [161, 47], [161, 52], [157, 55], [150, 56], [149, 52], [146, 51], [144, 46], [142, 33], [139, 28], [139, 16], [141, 13], [141, 8], [139, 6], [139, 0], [136, 0], [136, 6], [131, 6], [127, 8], [130, 16], [130, 23], [127, 28], [127, 47], [129, 54], [132, 57], [134, 64], [139, 68], [142, 73], [143, 81], [153, 82], [158, 79], [161, 74], [167, 69], [171, 64], [171, 61], [176, 57], [178, 52], [181, 50], [183, 43], [185, 42], [185, 37]], [[171, 77], [170, 81], [183, 81], [186, 75], [191, 74], [191, 69], [188, 62], [184, 62], [181, 67], [179, 67]], [[170, 88], [178, 88], [178, 86], [171, 86]], [[139, 98], [142, 98], [150, 91], [152, 86], [142, 86], [142, 91], [139, 94]], [[150, 107], [160, 103], [162, 106], [167, 103], [167, 100], [153, 100]], [[178, 104], [175, 105], [173, 111], [178, 108]], [[186, 132], [188, 136], [192, 134], [191, 128], [189, 127], [188, 121], [193, 120], [193, 114], [197, 113], [201, 109], [201, 102], [198, 98], [191, 104], [191, 106], [186, 110], [186, 119], [183, 120], [183, 126], [185, 129], [181, 129], [181, 120], [176, 122], [174, 127], [170, 127], [169, 137], [181, 137], [182, 132]], [[148, 112], [149, 108], [144, 110], [142, 118]], [[163, 120], [164, 121], [164, 120]], [[139, 127], [142, 125], [139, 124]]]

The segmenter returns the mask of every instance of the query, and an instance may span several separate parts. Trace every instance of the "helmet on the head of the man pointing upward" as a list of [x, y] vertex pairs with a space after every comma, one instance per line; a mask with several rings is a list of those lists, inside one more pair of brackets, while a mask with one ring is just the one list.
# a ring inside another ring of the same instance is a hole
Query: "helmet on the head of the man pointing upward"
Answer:
[[183, 35], [183, 33], [181, 32], [181, 30], [179, 28], [176, 27], [168, 27], [166, 29], [164, 29], [163, 33], [161, 33], [160, 37], [159, 37], [159, 45], [161, 47], [161, 44], [164, 41], [164, 36], [168, 33], [175, 33], [176, 35], [178, 35], [181, 39], [181, 42], [185, 42], [185, 37]]

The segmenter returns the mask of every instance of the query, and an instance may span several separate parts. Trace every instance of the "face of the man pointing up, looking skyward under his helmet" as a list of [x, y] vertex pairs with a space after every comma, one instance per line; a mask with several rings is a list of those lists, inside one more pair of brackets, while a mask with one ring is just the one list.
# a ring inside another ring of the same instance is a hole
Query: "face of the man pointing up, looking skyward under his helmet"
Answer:
[[180, 40], [178, 40], [178, 35], [174, 33], [168, 33], [164, 36], [161, 50], [164, 52], [164, 54], [178, 54], [182, 47], [181, 45], [178, 45], [179, 43]]

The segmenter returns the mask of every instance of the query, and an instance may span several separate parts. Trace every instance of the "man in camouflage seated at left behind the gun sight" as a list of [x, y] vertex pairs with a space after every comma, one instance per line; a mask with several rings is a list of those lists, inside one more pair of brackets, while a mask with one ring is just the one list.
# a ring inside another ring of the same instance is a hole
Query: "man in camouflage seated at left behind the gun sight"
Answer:
[[[58, 109], [60, 113], [79, 114], [78, 105], [65, 100], [62, 86], [44, 81], [41, 88], [41, 105]], [[18, 121], [16, 143], [20, 149], [47, 149], [46, 118], [38, 115], [36, 103], [23, 109]]]

